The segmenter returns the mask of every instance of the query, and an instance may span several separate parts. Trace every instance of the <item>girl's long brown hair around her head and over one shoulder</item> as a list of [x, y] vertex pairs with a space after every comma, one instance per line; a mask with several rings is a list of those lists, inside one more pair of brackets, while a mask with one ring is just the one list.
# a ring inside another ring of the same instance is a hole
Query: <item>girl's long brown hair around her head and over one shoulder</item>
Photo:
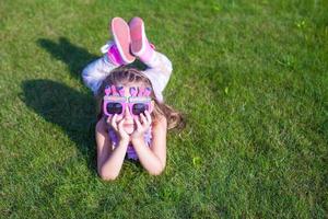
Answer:
[[[118, 85], [122, 84], [126, 85], [128, 83], [143, 83], [145, 87], [152, 87], [150, 80], [139, 70], [133, 68], [127, 68], [127, 67], [120, 67], [114, 69], [107, 78], [103, 81], [99, 92], [96, 96], [97, 99], [97, 112], [98, 112], [98, 118], [102, 117], [102, 104], [103, 104], [103, 96], [105, 95], [105, 88], [106, 85]], [[184, 117], [181, 113], [174, 110], [172, 106], [160, 103], [154, 92], [151, 93], [152, 100], [154, 100], [154, 110], [152, 112], [152, 117], [154, 123], [156, 123], [156, 119], [161, 116], [165, 116], [167, 119], [167, 129], [172, 128], [183, 128], [185, 126]]]

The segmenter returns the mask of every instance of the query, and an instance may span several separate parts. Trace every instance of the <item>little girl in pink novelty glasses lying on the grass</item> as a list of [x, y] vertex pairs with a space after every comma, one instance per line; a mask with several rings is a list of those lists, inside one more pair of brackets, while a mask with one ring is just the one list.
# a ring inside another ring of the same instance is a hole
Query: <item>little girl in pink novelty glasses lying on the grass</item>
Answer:
[[[166, 164], [166, 130], [181, 124], [180, 114], [164, 104], [162, 95], [172, 64], [149, 43], [140, 18], [129, 24], [115, 18], [110, 28], [114, 42], [82, 72], [99, 103], [97, 171], [103, 180], [115, 180], [127, 158], [159, 175]], [[127, 67], [136, 57], [147, 70]]]

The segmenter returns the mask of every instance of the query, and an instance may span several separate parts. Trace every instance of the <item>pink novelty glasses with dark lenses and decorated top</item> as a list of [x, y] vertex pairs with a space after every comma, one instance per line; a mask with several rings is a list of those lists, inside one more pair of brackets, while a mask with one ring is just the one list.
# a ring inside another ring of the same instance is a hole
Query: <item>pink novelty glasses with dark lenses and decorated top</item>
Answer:
[[122, 115], [126, 108], [132, 116], [139, 116], [151, 108], [150, 88], [130, 88], [131, 96], [124, 96], [122, 87], [106, 88], [103, 111], [106, 116]]

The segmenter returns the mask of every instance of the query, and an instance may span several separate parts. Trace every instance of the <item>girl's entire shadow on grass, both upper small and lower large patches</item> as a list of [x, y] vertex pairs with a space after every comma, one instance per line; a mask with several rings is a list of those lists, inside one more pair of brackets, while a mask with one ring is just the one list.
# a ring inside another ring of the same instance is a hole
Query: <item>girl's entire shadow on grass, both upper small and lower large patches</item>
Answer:
[[[70, 73], [79, 80], [82, 68], [96, 58], [63, 37], [59, 38], [59, 43], [42, 38], [37, 41], [37, 44], [56, 59], [65, 61]], [[47, 122], [61, 127], [77, 143], [80, 153], [94, 171], [96, 115], [92, 94], [83, 94], [65, 84], [46, 79], [24, 81], [22, 89], [22, 99], [25, 104]]]

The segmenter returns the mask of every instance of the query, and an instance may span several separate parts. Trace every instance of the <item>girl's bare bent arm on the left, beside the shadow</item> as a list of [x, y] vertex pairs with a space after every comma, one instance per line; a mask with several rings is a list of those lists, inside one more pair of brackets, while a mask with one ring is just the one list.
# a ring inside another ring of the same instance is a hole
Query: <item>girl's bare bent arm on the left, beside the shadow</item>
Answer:
[[122, 166], [128, 141], [120, 140], [113, 149], [108, 137], [107, 124], [103, 117], [96, 125], [97, 171], [103, 180], [115, 180]]

